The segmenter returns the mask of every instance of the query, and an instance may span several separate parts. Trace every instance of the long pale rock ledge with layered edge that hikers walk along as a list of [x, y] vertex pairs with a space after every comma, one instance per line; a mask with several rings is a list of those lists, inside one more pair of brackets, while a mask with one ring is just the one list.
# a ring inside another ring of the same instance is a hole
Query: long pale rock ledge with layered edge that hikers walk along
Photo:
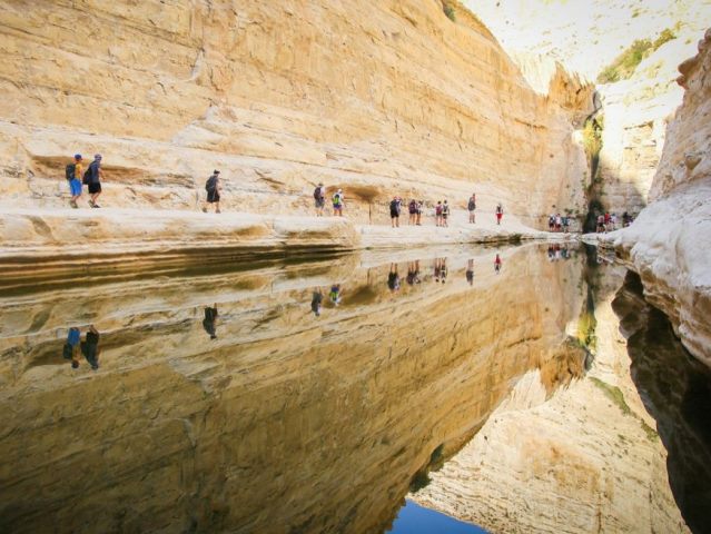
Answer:
[[[402, 219], [405, 219], [403, 216]], [[255, 214], [191, 214], [179, 210], [8, 209], [0, 212], [0, 290], [20, 286], [96, 283], [108, 278], [207, 265], [245, 268], [275, 258], [314, 258], [375, 248], [549, 238], [511, 215], [454, 211], [447, 228], [429, 217], [424, 226], [354, 225], [349, 218]], [[565, 239], [559, 234], [553, 238]]]

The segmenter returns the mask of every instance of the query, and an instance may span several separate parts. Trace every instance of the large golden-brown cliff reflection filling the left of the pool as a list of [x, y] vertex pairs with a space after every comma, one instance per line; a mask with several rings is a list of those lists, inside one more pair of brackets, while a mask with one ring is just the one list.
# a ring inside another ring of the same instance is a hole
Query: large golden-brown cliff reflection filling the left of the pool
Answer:
[[[502, 257], [495, 274], [488, 250], [447, 253], [443, 284], [422, 256], [411, 285], [413, 255], [395, 291], [394, 267], [363, 256], [3, 297], [2, 528], [382, 531], [432, 454], [462, 446], [519, 377], [552, 392], [582, 373], [561, 348], [580, 259]], [[61, 355], [87, 324], [93, 372]]]

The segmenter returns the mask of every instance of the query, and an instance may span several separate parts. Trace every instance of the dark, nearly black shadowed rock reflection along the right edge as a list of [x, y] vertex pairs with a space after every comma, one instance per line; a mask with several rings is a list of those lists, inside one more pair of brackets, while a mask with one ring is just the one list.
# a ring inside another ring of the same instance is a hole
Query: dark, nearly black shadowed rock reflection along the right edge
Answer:
[[628, 336], [632, 378], [669, 452], [669, 482], [693, 532], [711, 532], [711, 375], [674, 336], [669, 319], [628, 273], [613, 301]]

